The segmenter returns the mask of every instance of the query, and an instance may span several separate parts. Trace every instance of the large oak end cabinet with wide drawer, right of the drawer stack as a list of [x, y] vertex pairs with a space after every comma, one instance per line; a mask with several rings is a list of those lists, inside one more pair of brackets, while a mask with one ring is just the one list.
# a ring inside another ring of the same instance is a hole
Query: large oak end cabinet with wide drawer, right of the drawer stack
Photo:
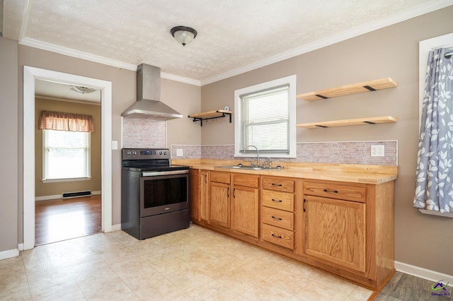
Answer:
[[304, 181], [304, 255], [374, 289], [394, 272], [394, 182]]

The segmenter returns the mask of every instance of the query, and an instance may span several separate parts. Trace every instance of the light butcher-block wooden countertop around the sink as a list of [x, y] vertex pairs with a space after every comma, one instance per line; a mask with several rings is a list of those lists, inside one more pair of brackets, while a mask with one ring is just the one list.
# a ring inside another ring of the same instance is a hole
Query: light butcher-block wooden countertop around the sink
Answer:
[[217, 170], [253, 175], [270, 175], [277, 177], [296, 177], [303, 179], [322, 179], [364, 184], [382, 184], [394, 181], [398, 177], [398, 167], [390, 165], [355, 165], [333, 163], [290, 163], [273, 162], [273, 167], [281, 165], [281, 170], [240, 170], [219, 166], [250, 165], [241, 160], [210, 160], [210, 159], [172, 159], [173, 165], [188, 165], [198, 170]]

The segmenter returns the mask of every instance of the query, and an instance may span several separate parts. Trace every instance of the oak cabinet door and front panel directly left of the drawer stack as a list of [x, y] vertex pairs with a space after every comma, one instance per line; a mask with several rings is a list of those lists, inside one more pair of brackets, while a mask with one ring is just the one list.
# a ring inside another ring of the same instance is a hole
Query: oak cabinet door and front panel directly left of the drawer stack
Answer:
[[258, 237], [258, 175], [233, 174], [231, 230]]

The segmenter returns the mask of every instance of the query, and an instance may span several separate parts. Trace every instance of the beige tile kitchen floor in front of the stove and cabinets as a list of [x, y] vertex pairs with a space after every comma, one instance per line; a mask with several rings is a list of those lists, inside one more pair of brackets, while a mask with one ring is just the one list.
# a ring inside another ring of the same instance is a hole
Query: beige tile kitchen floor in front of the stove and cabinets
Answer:
[[0, 261], [0, 300], [367, 300], [355, 284], [190, 225], [136, 240], [122, 231]]

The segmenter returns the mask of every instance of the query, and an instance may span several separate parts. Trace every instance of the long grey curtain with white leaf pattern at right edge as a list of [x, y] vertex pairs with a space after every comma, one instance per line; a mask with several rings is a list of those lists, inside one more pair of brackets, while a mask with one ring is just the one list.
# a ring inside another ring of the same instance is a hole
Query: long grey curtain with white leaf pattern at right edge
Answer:
[[430, 52], [413, 206], [453, 212], [453, 49]]

